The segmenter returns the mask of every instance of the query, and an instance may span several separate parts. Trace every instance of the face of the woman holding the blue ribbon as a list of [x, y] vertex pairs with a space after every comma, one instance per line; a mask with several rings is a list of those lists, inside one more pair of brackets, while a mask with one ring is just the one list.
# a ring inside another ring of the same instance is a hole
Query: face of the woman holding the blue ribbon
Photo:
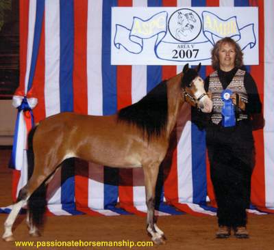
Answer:
[[219, 64], [223, 71], [230, 71], [235, 67], [236, 50], [233, 44], [221, 44], [219, 48]]

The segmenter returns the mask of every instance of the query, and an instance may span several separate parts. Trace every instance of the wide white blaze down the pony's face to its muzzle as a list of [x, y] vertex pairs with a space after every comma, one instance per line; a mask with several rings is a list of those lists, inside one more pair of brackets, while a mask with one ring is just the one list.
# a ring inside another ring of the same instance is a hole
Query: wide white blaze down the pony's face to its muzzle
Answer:
[[[194, 93], [195, 99], [198, 100], [200, 96], [206, 94], [206, 90], [204, 88], [203, 79], [201, 77], [196, 77], [193, 80], [193, 84], [196, 87], [196, 92]], [[204, 95], [198, 102], [198, 107], [201, 109], [203, 113], [210, 113], [212, 111], [212, 100], [208, 97], [208, 95]]]

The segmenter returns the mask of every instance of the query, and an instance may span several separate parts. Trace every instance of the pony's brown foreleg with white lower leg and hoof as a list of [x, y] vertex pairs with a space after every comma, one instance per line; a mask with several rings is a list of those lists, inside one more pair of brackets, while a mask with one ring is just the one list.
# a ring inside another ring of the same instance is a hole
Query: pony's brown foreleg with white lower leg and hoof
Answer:
[[147, 232], [151, 235], [151, 240], [157, 244], [164, 244], [164, 232], [156, 225], [155, 210], [155, 186], [158, 178], [159, 164], [144, 167], [146, 203], [147, 203]]

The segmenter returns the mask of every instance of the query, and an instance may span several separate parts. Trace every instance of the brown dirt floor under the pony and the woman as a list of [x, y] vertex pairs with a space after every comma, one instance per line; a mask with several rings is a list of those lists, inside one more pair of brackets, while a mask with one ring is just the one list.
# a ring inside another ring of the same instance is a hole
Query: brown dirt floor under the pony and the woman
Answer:
[[[10, 150], [0, 150], [0, 206], [11, 203], [11, 171], [7, 167]], [[3, 225], [7, 214], [0, 214]], [[153, 247], [38, 247], [38, 245], [87, 244], [95, 242], [118, 242], [121, 245], [138, 244], [149, 241], [145, 232], [145, 218], [135, 215], [119, 217], [47, 217], [42, 236], [30, 237], [25, 217], [21, 215], [16, 221], [14, 237], [18, 241], [32, 242], [34, 247], [16, 247], [15, 242], [0, 240], [0, 249], [161, 249], [161, 250], [272, 250], [274, 249], [274, 216], [249, 215], [249, 239], [216, 239], [216, 217], [192, 217], [188, 214], [160, 217], [158, 226], [166, 235], [166, 244]], [[3, 234], [3, 227], [0, 227]], [[80, 241], [82, 240], [82, 242]], [[36, 243], [37, 241], [37, 243]], [[93, 243], [93, 244], [95, 244]], [[106, 243], [102, 243], [106, 244]], [[111, 243], [110, 243], [111, 244]], [[114, 243], [113, 243], [114, 244]]]

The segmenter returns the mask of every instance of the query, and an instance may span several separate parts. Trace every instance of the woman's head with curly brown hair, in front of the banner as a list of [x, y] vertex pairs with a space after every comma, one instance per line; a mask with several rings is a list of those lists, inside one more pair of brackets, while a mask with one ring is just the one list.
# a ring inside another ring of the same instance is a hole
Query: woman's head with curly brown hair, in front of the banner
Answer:
[[211, 51], [212, 68], [214, 70], [232, 70], [242, 66], [242, 51], [232, 38], [223, 38], [216, 42]]

